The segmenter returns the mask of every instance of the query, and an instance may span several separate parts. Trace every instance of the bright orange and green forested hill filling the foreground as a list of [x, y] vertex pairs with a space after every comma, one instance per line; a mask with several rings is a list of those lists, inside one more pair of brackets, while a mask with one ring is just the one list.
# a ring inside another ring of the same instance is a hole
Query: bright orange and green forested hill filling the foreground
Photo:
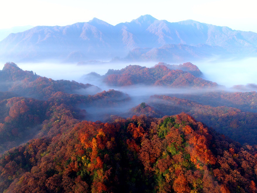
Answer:
[[57, 123], [59, 129], [52, 123], [54, 137], [5, 153], [1, 191], [257, 191], [256, 147], [242, 147], [184, 113], [75, 123]]

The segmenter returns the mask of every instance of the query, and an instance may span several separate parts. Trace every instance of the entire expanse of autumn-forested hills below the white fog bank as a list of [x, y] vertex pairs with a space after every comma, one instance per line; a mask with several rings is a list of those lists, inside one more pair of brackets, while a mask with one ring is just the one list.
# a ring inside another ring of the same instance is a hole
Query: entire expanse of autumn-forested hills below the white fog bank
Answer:
[[257, 192], [255, 91], [190, 62], [36, 73], [0, 71], [0, 192]]

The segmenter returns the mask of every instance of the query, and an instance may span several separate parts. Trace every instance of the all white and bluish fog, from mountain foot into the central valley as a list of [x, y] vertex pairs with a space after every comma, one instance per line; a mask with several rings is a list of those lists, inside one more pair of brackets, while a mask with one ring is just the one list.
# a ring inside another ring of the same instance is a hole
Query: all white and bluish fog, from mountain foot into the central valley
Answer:
[[[15, 61], [13, 61], [15, 62]], [[257, 84], [257, 58], [247, 58], [241, 60], [202, 60], [202, 61], [184, 61], [191, 62], [198, 66], [198, 68], [203, 72], [205, 79], [217, 82], [220, 85], [227, 87], [227, 90], [233, 85], [246, 85], [248, 83]], [[16, 63], [21, 69], [34, 71], [40, 76], [46, 76], [54, 80], [65, 79], [65, 80], [75, 80], [82, 83], [91, 83], [95, 86], [101, 88], [101, 90], [120, 90], [127, 93], [131, 100], [121, 101], [119, 104], [113, 107], [82, 107], [87, 111], [87, 120], [105, 120], [106, 115], [121, 115], [126, 116], [129, 110], [136, 105], [145, 102], [149, 102], [149, 97], [151, 95], [176, 95], [176, 94], [199, 94], [200, 92], [214, 91], [212, 89], [189, 89], [189, 88], [167, 88], [162, 86], [145, 86], [145, 85], [133, 85], [126, 87], [114, 87], [108, 86], [103, 82], [99, 81], [97, 77], [91, 77], [92, 79], [83, 79], [84, 74], [88, 74], [92, 71], [104, 75], [107, 73], [108, 69], [122, 69], [127, 65], [137, 64], [140, 66], [152, 67], [158, 62], [128, 62], [128, 63], [104, 63], [104, 64], [86, 64], [77, 65], [73, 64], [58, 64], [54, 62], [45, 63]], [[1, 63], [0, 69], [3, 68], [4, 63]], [[169, 64], [179, 64], [179, 63], [169, 63]], [[255, 85], [256, 86], [256, 85]], [[88, 90], [91, 89], [91, 90]], [[95, 94], [99, 90], [93, 88], [80, 89], [77, 91], [79, 94]], [[222, 89], [214, 88], [214, 89]], [[252, 88], [251, 88], [252, 89]], [[257, 90], [257, 87], [253, 90]], [[235, 90], [233, 90], [235, 91]], [[108, 117], [108, 116], [107, 116]]]

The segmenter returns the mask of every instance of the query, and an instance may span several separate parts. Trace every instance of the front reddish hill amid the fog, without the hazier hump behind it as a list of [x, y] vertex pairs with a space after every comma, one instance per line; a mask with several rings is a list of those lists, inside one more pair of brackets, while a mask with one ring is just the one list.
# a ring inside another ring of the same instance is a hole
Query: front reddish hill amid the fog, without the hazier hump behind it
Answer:
[[189, 72], [169, 69], [164, 65], [156, 65], [153, 68], [129, 65], [121, 70], [110, 69], [104, 75], [104, 82], [113, 86], [128, 86], [139, 83], [169, 87], [210, 88], [218, 86], [217, 83], [195, 77]]

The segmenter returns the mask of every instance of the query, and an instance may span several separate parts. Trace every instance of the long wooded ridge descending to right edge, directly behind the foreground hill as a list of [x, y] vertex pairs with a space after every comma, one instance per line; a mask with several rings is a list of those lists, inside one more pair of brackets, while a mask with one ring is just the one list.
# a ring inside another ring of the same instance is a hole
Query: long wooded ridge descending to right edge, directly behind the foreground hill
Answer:
[[257, 144], [257, 113], [243, 112], [227, 106], [202, 105], [191, 100], [164, 95], [152, 96], [149, 104], [164, 115], [187, 112], [197, 120], [242, 144]]

